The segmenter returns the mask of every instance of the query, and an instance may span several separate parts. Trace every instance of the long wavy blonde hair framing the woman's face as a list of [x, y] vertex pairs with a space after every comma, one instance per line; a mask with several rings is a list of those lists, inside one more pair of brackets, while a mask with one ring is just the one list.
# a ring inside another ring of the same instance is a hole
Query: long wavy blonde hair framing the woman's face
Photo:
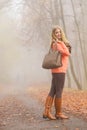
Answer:
[[53, 27], [53, 30], [52, 30], [52, 42], [58, 41], [58, 38], [55, 36], [56, 29], [60, 29], [61, 35], [62, 35], [62, 39], [61, 40], [65, 43], [66, 46], [68, 46], [69, 45], [69, 41], [67, 40], [63, 29], [60, 26], [58, 26], [58, 25]]

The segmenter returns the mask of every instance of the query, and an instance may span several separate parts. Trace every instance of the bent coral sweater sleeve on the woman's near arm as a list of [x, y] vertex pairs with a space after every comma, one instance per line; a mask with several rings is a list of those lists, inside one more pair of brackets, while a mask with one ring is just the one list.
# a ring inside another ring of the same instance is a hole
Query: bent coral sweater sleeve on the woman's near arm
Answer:
[[67, 55], [67, 56], [70, 55], [68, 48], [66, 47], [66, 45], [63, 42], [58, 43], [57, 48], [63, 55]]

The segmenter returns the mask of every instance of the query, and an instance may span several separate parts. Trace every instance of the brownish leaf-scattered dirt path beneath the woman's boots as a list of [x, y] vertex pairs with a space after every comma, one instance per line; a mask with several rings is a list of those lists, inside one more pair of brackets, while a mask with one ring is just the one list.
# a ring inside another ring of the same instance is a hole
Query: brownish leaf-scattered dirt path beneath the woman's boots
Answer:
[[87, 122], [72, 115], [69, 120], [45, 120], [43, 104], [27, 93], [0, 99], [0, 130], [87, 130]]

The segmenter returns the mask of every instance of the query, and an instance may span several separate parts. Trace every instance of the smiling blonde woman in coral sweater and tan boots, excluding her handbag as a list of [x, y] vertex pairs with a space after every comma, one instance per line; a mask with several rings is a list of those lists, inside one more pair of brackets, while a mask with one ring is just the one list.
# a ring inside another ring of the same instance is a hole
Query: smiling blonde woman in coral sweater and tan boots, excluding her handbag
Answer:
[[[52, 30], [52, 43], [51, 47], [53, 49], [58, 49], [58, 51], [62, 54], [62, 67], [54, 68], [51, 70], [52, 72], [52, 84], [50, 92], [46, 98], [45, 102], [45, 110], [43, 113], [43, 118], [49, 119], [68, 119], [61, 111], [62, 104], [62, 92], [65, 82], [65, 74], [68, 66], [68, 58], [71, 53], [71, 46], [68, 40], [65, 37], [63, 30], [57, 26]], [[55, 97], [55, 98], [54, 98]], [[56, 114], [55, 117], [51, 114], [51, 107], [55, 104]]]

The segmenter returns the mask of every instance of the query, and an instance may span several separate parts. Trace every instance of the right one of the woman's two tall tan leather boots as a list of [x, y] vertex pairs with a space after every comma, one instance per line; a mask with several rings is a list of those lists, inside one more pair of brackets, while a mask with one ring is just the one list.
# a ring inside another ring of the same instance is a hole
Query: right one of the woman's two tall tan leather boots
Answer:
[[62, 99], [61, 98], [55, 98], [55, 109], [56, 109], [56, 114], [55, 117], [57, 119], [68, 119], [67, 116], [65, 116], [62, 112], [61, 112], [61, 105], [62, 105]]

